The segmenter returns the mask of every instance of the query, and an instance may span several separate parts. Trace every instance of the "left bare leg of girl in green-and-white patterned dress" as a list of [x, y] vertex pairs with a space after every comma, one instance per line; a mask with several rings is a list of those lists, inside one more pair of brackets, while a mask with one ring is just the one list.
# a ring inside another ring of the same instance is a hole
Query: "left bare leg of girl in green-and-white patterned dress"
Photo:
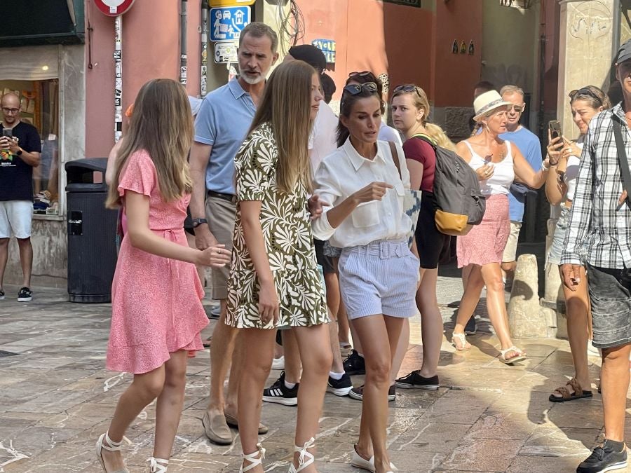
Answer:
[[[274, 338], [276, 331], [269, 329], [242, 329], [243, 363], [247, 366], [242, 371], [239, 380], [239, 435], [243, 453], [257, 451], [259, 441], [259, 420], [261, 419], [261, 393], [271, 369], [271, 359], [274, 353]], [[244, 461], [247, 467], [250, 462]], [[250, 470], [252, 473], [262, 473], [262, 465]]]

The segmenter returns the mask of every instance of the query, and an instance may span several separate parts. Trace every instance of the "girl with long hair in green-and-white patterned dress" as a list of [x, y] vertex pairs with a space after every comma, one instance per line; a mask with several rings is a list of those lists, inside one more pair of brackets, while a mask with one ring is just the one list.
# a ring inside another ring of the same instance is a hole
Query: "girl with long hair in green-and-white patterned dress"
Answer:
[[302, 61], [280, 64], [235, 157], [238, 200], [226, 324], [243, 329], [247, 372], [238, 392], [242, 472], [264, 471], [265, 449], [258, 441], [261, 392], [276, 329], [289, 327], [304, 369], [289, 471], [316, 471], [315, 435], [332, 363], [308, 209], [313, 190], [308, 138], [322, 98], [313, 67]]

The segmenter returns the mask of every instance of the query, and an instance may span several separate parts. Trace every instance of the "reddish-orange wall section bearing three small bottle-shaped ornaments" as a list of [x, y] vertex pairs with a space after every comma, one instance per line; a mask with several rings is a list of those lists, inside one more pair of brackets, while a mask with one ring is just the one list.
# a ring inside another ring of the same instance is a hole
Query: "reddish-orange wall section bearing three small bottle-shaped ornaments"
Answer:
[[[480, 81], [482, 60], [482, 2], [436, 2], [435, 48], [430, 88], [435, 107], [471, 107], [473, 86]], [[473, 40], [475, 54], [453, 54], [454, 39]]]

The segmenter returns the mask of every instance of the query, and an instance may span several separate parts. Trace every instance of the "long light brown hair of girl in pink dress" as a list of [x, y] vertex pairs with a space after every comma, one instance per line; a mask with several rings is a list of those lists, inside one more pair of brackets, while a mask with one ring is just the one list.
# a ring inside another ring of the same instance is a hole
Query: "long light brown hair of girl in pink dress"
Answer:
[[121, 206], [121, 170], [135, 151], [149, 153], [158, 174], [162, 198], [171, 202], [190, 193], [193, 181], [186, 158], [193, 142], [193, 116], [184, 87], [171, 79], [145, 83], [134, 102], [129, 130], [116, 156], [114, 181], [105, 205]]

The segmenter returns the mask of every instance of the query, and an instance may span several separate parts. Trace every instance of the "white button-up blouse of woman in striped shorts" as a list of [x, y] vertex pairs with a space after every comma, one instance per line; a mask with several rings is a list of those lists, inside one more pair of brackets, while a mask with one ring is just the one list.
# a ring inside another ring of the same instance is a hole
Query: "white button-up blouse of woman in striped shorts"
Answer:
[[330, 240], [332, 246], [339, 248], [367, 245], [374, 240], [407, 238], [412, 221], [403, 211], [403, 200], [409, 189], [409, 172], [402, 147], [396, 144], [396, 148], [402, 179], [388, 142], [377, 141], [377, 153], [372, 160], [360, 156], [350, 139], [324, 158], [315, 174], [313, 193], [333, 207], [374, 181], [386, 182], [393, 188], [388, 189], [381, 200], [355, 207], [337, 228], [333, 228], [327, 218], [332, 207], [325, 207], [322, 216], [312, 224], [315, 238]]

